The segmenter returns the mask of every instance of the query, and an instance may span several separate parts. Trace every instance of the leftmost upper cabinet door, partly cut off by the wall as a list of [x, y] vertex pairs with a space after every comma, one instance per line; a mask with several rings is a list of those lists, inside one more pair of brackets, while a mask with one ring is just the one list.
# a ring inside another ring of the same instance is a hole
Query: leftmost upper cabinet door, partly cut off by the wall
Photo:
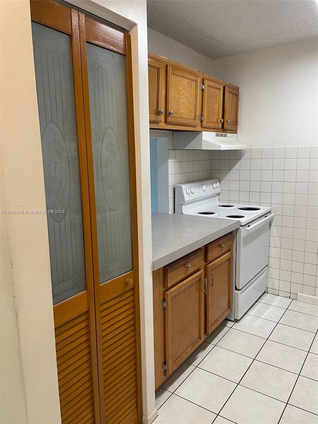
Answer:
[[148, 59], [149, 121], [164, 122], [165, 65], [158, 60]]

